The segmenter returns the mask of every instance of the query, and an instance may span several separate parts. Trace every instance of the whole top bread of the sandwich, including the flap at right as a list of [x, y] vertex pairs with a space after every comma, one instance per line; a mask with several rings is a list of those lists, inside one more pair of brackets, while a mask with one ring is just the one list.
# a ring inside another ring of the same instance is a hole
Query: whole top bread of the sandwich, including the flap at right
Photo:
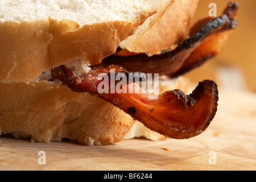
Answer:
[[198, 1], [0, 1], [0, 81], [30, 82], [72, 60], [99, 64], [118, 46], [148, 56], [174, 49]]

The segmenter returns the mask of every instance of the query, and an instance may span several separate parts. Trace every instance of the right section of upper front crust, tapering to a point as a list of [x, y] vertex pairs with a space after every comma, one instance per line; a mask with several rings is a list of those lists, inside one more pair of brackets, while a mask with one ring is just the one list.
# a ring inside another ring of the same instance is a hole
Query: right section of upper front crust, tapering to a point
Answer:
[[49, 32], [53, 40], [49, 44], [53, 67], [72, 59], [81, 59], [87, 64], [99, 64], [105, 57], [115, 53], [120, 42], [133, 35], [144, 21], [156, 13], [148, 9], [131, 22], [103, 22], [79, 26], [72, 20], [58, 22], [50, 19]]

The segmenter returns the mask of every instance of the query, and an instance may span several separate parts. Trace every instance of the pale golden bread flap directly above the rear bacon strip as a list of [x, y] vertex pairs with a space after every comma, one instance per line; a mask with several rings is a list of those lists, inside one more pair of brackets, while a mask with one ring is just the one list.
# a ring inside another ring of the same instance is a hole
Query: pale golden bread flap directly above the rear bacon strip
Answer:
[[120, 43], [122, 49], [146, 53], [148, 56], [164, 49], [174, 49], [188, 38], [199, 0], [148, 0], [158, 13], [150, 16], [134, 35]]

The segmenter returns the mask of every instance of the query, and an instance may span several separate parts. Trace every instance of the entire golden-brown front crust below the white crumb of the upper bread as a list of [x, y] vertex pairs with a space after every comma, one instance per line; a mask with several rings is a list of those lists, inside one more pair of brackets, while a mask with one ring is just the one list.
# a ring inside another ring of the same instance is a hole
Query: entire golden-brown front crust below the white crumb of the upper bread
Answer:
[[130, 21], [80, 26], [72, 20], [0, 23], [0, 81], [30, 82], [44, 71], [81, 59], [98, 64], [134, 33], [149, 16], [148, 8]]

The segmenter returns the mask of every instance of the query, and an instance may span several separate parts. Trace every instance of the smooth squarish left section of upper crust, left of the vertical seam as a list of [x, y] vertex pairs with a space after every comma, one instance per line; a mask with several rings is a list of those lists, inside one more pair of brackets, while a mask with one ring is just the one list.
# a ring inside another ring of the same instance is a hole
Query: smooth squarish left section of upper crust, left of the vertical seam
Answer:
[[28, 81], [51, 68], [49, 22], [0, 23], [0, 81]]

